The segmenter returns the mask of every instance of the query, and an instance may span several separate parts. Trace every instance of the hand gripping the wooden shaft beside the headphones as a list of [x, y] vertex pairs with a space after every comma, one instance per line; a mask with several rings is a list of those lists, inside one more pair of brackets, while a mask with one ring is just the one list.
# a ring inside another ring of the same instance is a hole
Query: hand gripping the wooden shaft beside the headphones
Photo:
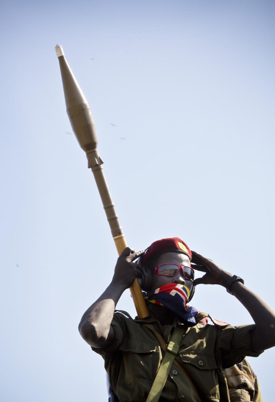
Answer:
[[140, 277], [142, 267], [133, 263], [135, 259], [144, 254], [144, 251], [135, 252], [132, 248], [126, 247], [117, 258], [112, 283], [127, 289], [133, 284], [136, 277]]

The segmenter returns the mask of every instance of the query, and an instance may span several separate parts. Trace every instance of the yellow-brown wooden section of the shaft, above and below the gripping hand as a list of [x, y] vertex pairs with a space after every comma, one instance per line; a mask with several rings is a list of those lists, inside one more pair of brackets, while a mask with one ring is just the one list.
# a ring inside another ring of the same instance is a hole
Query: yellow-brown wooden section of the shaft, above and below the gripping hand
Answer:
[[[117, 236], [116, 238], [114, 238], [114, 241], [117, 252], [120, 255], [123, 252], [124, 248], [127, 247], [125, 236]], [[149, 317], [150, 314], [148, 312], [148, 308], [146, 306], [142, 290], [140, 288], [140, 283], [137, 278], [135, 278], [133, 285], [130, 287], [130, 291], [133, 297], [133, 302], [135, 304], [135, 309], [137, 310], [138, 318]]]

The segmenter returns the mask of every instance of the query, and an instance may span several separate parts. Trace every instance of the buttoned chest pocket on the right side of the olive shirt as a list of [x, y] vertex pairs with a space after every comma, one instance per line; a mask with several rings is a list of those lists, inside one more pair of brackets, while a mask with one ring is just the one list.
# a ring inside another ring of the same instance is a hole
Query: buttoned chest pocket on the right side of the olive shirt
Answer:
[[209, 399], [220, 399], [217, 363], [215, 356], [202, 352], [179, 353], [181, 363], [187, 370], [190, 377], [201, 395]]

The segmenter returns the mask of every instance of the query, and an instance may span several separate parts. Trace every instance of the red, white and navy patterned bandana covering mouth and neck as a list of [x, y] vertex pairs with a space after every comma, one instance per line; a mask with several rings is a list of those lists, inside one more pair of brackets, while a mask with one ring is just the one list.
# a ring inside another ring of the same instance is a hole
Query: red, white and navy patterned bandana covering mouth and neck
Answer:
[[146, 297], [146, 299], [150, 301], [150, 303], [165, 306], [174, 312], [179, 318], [179, 324], [193, 326], [196, 324], [195, 316], [198, 311], [195, 307], [186, 306], [189, 295], [190, 290], [188, 287], [180, 283], [167, 283], [156, 289], [155, 293]]

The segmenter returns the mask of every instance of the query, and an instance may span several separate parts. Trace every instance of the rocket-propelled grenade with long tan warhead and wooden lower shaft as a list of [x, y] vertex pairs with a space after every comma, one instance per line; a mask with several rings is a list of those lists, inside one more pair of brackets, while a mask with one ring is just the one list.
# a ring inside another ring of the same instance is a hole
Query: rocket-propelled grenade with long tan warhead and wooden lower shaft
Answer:
[[[82, 150], [86, 152], [88, 159], [88, 168], [91, 168], [96, 181], [101, 201], [107, 215], [111, 233], [115, 241], [115, 245], [119, 254], [127, 247], [123, 230], [119, 224], [118, 216], [115, 211], [115, 205], [111, 198], [111, 194], [103, 173], [103, 160], [99, 156], [97, 150], [97, 135], [92, 119], [92, 113], [88, 102], [80, 89], [74, 74], [68, 65], [64, 56], [64, 51], [61, 45], [55, 46], [55, 51], [59, 60], [66, 109], [74, 134]], [[139, 318], [149, 316], [144, 297], [140, 288], [140, 284], [135, 279], [130, 287], [137, 315]]]

